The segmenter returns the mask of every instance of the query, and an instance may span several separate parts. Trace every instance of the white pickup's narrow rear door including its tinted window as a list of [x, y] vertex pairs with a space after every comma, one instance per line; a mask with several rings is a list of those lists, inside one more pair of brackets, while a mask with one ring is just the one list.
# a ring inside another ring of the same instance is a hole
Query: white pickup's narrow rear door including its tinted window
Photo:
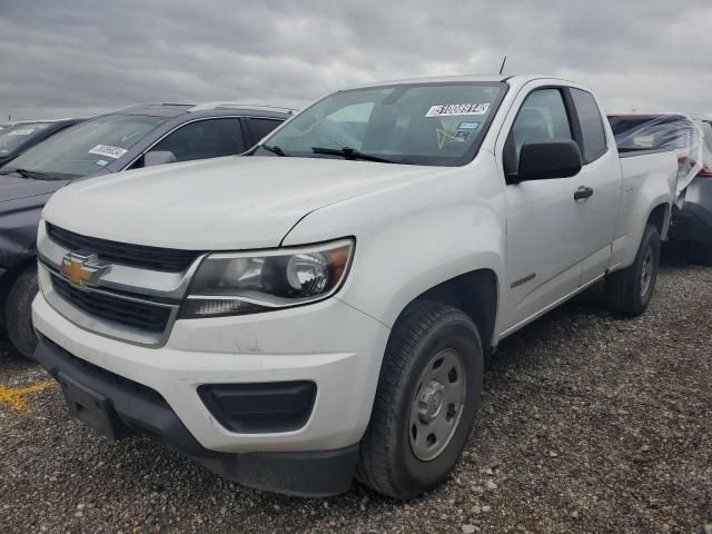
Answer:
[[[621, 202], [621, 162], [615, 144], [609, 144], [602, 113], [592, 93], [568, 88], [574, 137], [581, 147], [583, 168], [577, 188], [591, 196], [576, 201], [582, 247], [581, 285], [605, 274], [611, 259]], [[611, 145], [611, 146], [609, 146]]]

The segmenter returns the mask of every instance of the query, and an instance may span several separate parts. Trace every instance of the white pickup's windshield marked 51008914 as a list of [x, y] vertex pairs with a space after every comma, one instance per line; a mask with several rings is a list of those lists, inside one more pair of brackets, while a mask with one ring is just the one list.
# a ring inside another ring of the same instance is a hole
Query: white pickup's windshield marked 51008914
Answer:
[[505, 89], [498, 82], [447, 82], [335, 92], [254, 154], [464, 165], [475, 157]]

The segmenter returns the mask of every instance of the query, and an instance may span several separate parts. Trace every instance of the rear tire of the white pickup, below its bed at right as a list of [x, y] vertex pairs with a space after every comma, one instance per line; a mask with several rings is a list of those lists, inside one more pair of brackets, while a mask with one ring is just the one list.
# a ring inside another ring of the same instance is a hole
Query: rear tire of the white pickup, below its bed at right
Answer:
[[633, 265], [609, 275], [605, 280], [605, 297], [609, 306], [615, 312], [630, 316], [637, 316], [645, 312], [655, 293], [659, 265], [660, 234], [653, 225], [646, 225]]

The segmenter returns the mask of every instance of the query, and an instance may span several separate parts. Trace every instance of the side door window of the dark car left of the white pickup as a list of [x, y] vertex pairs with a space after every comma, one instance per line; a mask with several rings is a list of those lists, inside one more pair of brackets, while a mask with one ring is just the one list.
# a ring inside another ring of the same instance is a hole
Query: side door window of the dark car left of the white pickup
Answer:
[[239, 119], [206, 119], [177, 129], [151, 148], [155, 150], [168, 150], [178, 161], [191, 161], [241, 154], [245, 141]]

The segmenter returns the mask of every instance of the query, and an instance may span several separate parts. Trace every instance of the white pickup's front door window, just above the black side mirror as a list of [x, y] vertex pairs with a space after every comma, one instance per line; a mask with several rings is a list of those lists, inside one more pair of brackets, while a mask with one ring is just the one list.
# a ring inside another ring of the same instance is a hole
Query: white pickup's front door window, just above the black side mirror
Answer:
[[516, 175], [520, 152], [525, 142], [547, 139], [573, 139], [564, 99], [558, 89], [537, 89], [524, 100], [504, 145], [506, 175]]

